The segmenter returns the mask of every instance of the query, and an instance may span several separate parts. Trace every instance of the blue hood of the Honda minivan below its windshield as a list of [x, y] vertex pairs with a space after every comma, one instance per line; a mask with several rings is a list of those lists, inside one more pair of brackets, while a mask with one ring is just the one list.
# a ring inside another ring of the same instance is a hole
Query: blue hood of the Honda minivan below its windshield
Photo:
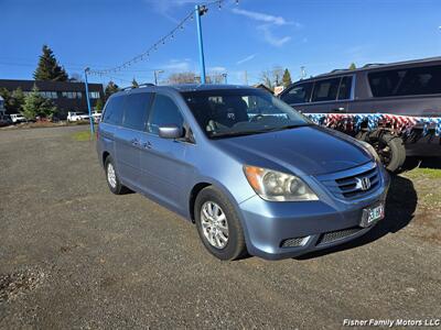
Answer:
[[244, 164], [273, 169], [282, 166], [306, 175], [320, 175], [348, 169], [372, 160], [352, 141], [343, 133], [311, 125], [226, 138], [215, 143]]

